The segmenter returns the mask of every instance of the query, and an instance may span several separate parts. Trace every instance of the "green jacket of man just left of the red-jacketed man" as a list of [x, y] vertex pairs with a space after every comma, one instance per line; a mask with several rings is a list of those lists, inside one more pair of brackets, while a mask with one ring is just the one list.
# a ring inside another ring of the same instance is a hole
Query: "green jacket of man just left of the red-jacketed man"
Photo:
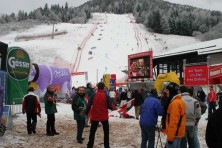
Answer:
[[[86, 101], [84, 96], [75, 93], [72, 97], [72, 110], [74, 111], [75, 120], [85, 119]], [[82, 112], [82, 115], [80, 113]]]

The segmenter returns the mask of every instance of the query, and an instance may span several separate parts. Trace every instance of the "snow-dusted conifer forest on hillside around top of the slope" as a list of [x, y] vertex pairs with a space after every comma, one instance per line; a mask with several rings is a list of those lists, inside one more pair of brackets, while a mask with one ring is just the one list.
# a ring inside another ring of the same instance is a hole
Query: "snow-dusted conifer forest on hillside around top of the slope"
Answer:
[[222, 38], [222, 12], [172, 4], [163, 0], [91, 0], [79, 7], [52, 5], [30, 13], [2, 15], [0, 23], [37, 19], [43, 22], [86, 23], [93, 12], [133, 13], [137, 23], [161, 34], [194, 36], [202, 41]]

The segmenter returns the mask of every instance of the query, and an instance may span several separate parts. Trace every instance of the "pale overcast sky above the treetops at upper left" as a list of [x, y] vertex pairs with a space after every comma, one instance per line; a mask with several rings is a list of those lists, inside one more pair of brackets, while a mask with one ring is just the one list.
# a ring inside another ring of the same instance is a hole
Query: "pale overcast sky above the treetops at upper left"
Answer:
[[68, 2], [69, 6], [79, 6], [89, 0], [0, 0], [0, 14], [17, 13], [19, 10], [29, 12], [38, 7], [44, 7], [45, 3], [48, 5], [61, 4], [65, 5]]

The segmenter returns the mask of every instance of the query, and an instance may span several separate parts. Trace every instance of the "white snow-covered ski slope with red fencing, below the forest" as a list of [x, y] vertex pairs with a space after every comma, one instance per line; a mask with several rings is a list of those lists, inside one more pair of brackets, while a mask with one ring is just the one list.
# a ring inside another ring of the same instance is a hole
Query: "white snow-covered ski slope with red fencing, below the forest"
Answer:
[[[52, 32], [52, 25], [39, 25], [28, 30], [0, 36], [9, 46], [26, 49], [33, 63], [68, 67], [72, 72], [88, 72], [89, 82], [96, 83], [104, 73], [115, 73], [122, 80], [129, 54], [153, 50], [154, 55], [181, 46], [197, 43], [192, 37], [162, 35], [148, 32], [142, 24], [136, 24], [132, 14], [115, 15], [94, 13], [87, 24], [55, 24], [56, 31], [67, 34], [15, 41], [16, 36], [42, 35]], [[92, 53], [92, 54], [90, 54]], [[85, 85], [84, 76], [74, 76], [73, 85]]]

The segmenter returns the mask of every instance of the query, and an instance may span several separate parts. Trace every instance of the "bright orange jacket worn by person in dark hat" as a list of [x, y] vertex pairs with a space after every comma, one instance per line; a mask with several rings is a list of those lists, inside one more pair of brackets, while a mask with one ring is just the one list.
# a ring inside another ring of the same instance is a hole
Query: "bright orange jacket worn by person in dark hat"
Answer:
[[181, 95], [176, 95], [167, 108], [166, 134], [167, 140], [182, 138], [186, 128], [186, 106]]

